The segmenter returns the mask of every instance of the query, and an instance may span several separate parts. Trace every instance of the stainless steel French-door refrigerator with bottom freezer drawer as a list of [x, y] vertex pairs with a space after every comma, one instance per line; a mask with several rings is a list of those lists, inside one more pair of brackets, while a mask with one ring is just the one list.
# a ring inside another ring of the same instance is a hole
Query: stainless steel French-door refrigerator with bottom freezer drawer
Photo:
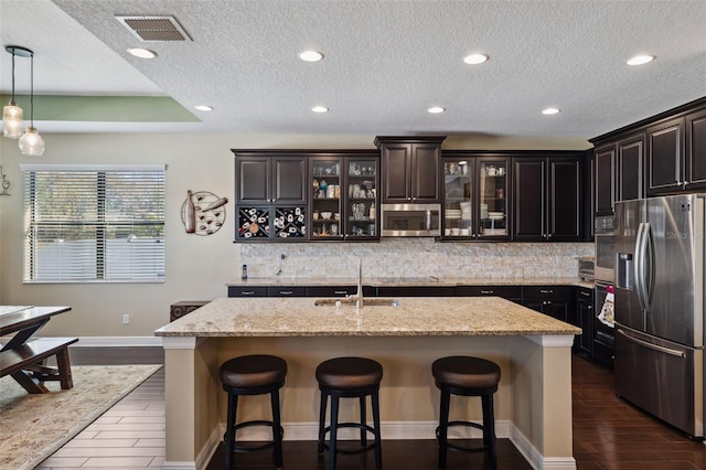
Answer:
[[616, 391], [704, 436], [706, 194], [616, 203]]

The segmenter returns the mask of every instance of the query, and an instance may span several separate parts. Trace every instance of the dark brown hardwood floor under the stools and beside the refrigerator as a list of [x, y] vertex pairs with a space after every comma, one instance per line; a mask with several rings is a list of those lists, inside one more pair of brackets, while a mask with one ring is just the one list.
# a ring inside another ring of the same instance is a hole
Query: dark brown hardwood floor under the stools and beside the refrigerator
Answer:
[[[163, 361], [161, 349], [72, 348], [73, 364], [126, 364]], [[581, 357], [573, 360], [574, 456], [578, 470], [706, 470], [706, 446], [646, 415], [613, 392], [612, 372]], [[286, 441], [285, 468], [324, 469], [313, 441]], [[238, 455], [237, 470], [271, 468], [269, 451]], [[436, 469], [434, 440], [383, 441], [385, 469]], [[221, 446], [208, 470], [223, 466]], [[484, 468], [481, 455], [449, 452], [449, 470]], [[153, 468], [153, 467], [152, 467]], [[339, 469], [373, 469], [372, 453], [340, 456]], [[530, 469], [507, 439], [499, 439], [499, 469]]]

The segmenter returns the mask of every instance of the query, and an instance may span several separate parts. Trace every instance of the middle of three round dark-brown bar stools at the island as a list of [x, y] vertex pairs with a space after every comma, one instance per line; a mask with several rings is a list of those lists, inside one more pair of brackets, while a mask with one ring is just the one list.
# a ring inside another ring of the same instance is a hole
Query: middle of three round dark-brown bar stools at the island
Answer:
[[[382, 444], [379, 435], [379, 382], [383, 380], [383, 366], [372, 359], [335, 357], [322, 362], [317, 367], [317, 381], [321, 391], [321, 409], [319, 413], [319, 453], [329, 449], [329, 469], [335, 469], [336, 452], [359, 453], [375, 449], [375, 466], [383, 467]], [[367, 425], [365, 417], [365, 397], [370, 396], [373, 406], [373, 426]], [[325, 426], [327, 403], [331, 397], [331, 424]], [[359, 398], [361, 423], [339, 423], [339, 398]], [[340, 428], [359, 428], [361, 430], [360, 449], [336, 448]], [[329, 445], [324, 442], [330, 432]], [[367, 432], [372, 432], [375, 441], [367, 444]]]

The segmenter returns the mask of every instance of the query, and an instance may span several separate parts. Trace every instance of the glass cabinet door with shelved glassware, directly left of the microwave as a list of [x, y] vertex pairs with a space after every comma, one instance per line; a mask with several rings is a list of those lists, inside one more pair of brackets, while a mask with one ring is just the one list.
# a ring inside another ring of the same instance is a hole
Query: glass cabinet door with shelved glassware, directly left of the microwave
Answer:
[[345, 239], [378, 239], [379, 159], [346, 157], [345, 170]]

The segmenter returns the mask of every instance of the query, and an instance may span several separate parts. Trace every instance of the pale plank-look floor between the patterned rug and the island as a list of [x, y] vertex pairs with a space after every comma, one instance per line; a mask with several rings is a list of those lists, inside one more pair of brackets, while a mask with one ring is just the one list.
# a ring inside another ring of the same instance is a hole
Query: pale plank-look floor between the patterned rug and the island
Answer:
[[164, 368], [160, 368], [36, 468], [161, 468], [164, 430]]

